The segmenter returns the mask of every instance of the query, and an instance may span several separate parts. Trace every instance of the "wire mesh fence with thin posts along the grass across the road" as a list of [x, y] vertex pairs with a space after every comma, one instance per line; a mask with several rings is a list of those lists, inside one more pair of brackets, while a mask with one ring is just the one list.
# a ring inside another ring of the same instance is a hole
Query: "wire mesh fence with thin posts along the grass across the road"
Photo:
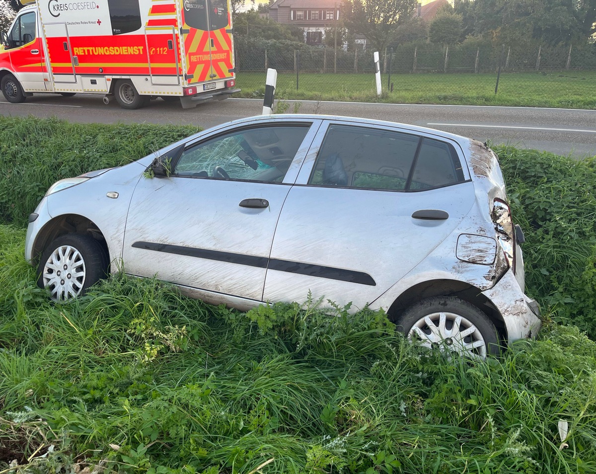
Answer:
[[[264, 88], [266, 69], [272, 68], [279, 73], [278, 91], [284, 98], [375, 97], [371, 50], [242, 38], [236, 42], [235, 58], [238, 86], [255, 94]], [[478, 103], [498, 94], [520, 105], [526, 104], [525, 97], [538, 106], [596, 108], [594, 45], [406, 44], [384, 51], [380, 66], [390, 101]]]

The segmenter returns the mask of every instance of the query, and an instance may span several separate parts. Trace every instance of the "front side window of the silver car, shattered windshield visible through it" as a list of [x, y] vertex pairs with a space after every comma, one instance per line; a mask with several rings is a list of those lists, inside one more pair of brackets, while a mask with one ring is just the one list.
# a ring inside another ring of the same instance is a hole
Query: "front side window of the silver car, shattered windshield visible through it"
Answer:
[[246, 128], [200, 142], [182, 152], [173, 174], [281, 182], [309, 125]]

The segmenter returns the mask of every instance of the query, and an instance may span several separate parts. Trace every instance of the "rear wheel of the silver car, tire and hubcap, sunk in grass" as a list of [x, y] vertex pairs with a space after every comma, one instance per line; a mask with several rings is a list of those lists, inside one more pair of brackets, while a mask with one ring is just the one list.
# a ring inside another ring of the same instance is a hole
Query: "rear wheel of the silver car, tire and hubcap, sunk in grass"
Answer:
[[419, 340], [429, 348], [482, 359], [500, 352], [499, 338], [488, 316], [459, 298], [424, 299], [406, 309], [395, 323], [408, 339]]

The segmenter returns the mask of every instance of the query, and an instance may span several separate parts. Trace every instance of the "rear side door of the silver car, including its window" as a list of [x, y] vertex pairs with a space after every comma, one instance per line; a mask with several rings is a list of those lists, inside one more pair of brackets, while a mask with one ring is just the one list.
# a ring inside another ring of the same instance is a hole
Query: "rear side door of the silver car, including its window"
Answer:
[[455, 142], [429, 134], [324, 122], [285, 200], [263, 298], [377, 299], [470, 210], [461, 163]]

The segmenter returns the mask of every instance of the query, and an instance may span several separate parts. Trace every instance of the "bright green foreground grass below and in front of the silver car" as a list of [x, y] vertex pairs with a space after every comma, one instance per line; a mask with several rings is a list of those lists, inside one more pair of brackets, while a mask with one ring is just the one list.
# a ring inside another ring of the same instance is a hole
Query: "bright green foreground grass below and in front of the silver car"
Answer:
[[468, 364], [313, 302], [241, 314], [116, 277], [56, 306], [23, 231], [0, 230], [0, 445], [29, 472], [596, 471], [596, 343], [576, 328]]

